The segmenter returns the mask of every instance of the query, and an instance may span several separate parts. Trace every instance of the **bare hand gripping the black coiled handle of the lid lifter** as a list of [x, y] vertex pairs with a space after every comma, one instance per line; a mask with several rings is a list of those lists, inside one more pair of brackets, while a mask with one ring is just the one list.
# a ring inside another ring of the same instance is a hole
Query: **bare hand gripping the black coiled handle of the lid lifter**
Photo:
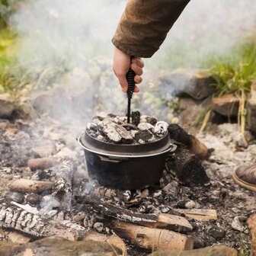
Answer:
[[[129, 69], [133, 69], [133, 71], [136, 73], [134, 77], [134, 81], [136, 84], [139, 84], [142, 82], [142, 68], [144, 67], [144, 62], [141, 58], [135, 57], [132, 59], [132, 62], [130, 60], [130, 56], [126, 53], [123, 53], [121, 50], [117, 49], [115, 47], [114, 49], [114, 59], [113, 59], [113, 70], [114, 73], [117, 75], [117, 78], [119, 80], [119, 83], [122, 87], [122, 90], [126, 92], [128, 90], [128, 83], [126, 80], [126, 73], [129, 71]], [[139, 87], [135, 85], [134, 92], [138, 92]]]

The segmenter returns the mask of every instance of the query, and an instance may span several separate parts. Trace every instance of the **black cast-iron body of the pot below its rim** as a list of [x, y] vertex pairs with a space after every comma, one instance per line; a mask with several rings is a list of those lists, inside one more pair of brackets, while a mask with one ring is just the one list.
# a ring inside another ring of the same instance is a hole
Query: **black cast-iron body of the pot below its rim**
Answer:
[[168, 152], [142, 158], [107, 158], [85, 149], [90, 178], [106, 187], [134, 190], [159, 181]]

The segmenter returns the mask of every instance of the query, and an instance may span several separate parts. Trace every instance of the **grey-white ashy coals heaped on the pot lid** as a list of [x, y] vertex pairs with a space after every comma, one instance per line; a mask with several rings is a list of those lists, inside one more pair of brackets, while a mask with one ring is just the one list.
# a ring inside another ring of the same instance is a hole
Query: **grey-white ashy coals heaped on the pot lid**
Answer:
[[87, 124], [86, 131], [99, 141], [116, 144], [145, 144], [165, 136], [168, 124], [155, 117], [142, 116], [138, 126], [128, 124], [126, 117], [108, 114], [94, 117]]

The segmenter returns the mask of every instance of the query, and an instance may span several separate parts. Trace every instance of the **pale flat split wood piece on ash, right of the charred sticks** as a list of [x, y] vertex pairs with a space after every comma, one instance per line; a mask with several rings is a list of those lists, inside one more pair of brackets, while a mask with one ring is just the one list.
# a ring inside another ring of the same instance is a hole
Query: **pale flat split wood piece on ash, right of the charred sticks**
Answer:
[[218, 219], [216, 210], [212, 209], [176, 209], [176, 211], [192, 219]]

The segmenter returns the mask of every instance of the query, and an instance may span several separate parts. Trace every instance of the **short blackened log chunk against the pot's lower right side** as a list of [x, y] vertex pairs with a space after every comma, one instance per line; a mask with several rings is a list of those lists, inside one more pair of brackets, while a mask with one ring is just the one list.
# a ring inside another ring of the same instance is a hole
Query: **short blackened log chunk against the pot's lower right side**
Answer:
[[179, 181], [183, 184], [207, 184], [210, 179], [206, 175], [206, 171], [197, 155], [192, 154], [184, 146], [172, 152], [166, 162], [166, 168], [175, 174]]

